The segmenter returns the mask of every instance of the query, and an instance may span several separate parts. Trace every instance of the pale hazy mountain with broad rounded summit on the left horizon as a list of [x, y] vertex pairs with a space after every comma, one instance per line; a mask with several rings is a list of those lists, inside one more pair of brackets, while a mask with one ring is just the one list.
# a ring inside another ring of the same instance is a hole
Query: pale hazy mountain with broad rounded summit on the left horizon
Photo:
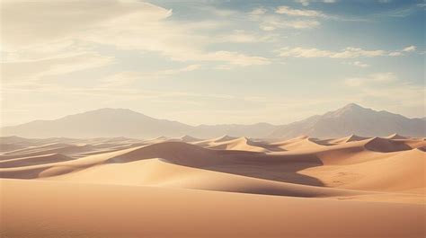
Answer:
[[133, 110], [100, 109], [3, 128], [2, 134], [20, 137], [178, 137], [188, 130], [191, 126], [150, 118]]

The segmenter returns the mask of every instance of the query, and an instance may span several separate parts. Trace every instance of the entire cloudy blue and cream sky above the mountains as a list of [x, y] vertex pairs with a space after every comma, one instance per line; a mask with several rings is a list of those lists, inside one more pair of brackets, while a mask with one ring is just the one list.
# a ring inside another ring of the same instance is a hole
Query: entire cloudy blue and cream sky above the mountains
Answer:
[[423, 0], [0, 0], [2, 126], [127, 108], [286, 124], [425, 116]]

